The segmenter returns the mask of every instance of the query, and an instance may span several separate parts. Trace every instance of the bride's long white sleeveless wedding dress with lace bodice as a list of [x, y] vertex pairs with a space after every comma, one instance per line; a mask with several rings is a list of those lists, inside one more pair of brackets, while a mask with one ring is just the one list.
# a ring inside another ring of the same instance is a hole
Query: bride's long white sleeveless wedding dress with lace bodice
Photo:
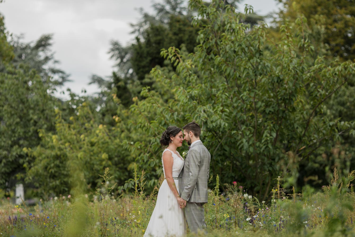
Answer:
[[[180, 157], [180, 154], [176, 155], [169, 149], [165, 149], [163, 154], [166, 151], [171, 152], [173, 156], [173, 177], [178, 178], [180, 169], [184, 165], [184, 160]], [[163, 155], [162, 164], [165, 177]], [[179, 179], [174, 179], [174, 182], [176, 189], [179, 192]], [[186, 219], [184, 211], [180, 209], [174, 193], [169, 188], [166, 179], [164, 179], [159, 188], [157, 203], [155, 204], [155, 208], [144, 233], [144, 237], [178, 237], [184, 235], [186, 235]]]

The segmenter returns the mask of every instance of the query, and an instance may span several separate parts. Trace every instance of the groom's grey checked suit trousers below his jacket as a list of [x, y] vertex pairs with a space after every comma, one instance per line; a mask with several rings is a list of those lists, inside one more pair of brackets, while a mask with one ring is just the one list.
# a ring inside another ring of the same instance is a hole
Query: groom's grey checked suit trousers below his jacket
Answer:
[[204, 222], [204, 203], [186, 203], [185, 217], [191, 232], [197, 233], [203, 230], [207, 233], [207, 226]]

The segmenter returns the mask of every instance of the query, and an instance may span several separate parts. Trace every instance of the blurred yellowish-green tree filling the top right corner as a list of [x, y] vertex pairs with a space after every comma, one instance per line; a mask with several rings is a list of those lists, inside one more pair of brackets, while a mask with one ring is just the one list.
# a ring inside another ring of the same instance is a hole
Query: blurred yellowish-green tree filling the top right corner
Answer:
[[324, 29], [323, 43], [329, 51], [343, 60], [355, 59], [355, 2], [353, 0], [280, 0], [284, 9], [279, 13], [280, 24], [304, 15], [310, 25]]

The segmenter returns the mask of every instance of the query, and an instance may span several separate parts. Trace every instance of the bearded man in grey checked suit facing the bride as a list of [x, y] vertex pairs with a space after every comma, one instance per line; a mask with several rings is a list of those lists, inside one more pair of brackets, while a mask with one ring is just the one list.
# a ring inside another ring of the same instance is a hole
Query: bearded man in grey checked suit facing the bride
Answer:
[[[184, 140], [190, 146], [179, 174], [178, 199], [180, 208], [185, 208], [187, 224], [192, 232], [204, 230], [203, 204], [207, 203], [207, 182], [209, 178], [209, 162], [211, 155], [200, 140], [201, 128], [195, 121], [183, 128]], [[187, 204], [186, 204], [187, 203]]]

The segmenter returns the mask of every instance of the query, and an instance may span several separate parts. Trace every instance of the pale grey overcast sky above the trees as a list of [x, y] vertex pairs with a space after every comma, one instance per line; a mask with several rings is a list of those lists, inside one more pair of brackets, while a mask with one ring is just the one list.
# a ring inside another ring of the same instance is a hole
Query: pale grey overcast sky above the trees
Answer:
[[[163, 2], [155, 0], [154, 2]], [[24, 34], [24, 42], [35, 41], [42, 34], [53, 33], [53, 51], [58, 67], [68, 74], [67, 82], [60, 90], [70, 88], [82, 94], [83, 88], [92, 94], [97, 86], [88, 85], [90, 76], [110, 75], [114, 61], [107, 54], [110, 40], [123, 45], [133, 42], [129, 23], [136, 23], [143, 7], [152, 13], [151, 0], [5, 0], [0, 12], [5, 17], [7, 31]], [[260, 15], [277, 11], [275, 0], [244, 0]]]

